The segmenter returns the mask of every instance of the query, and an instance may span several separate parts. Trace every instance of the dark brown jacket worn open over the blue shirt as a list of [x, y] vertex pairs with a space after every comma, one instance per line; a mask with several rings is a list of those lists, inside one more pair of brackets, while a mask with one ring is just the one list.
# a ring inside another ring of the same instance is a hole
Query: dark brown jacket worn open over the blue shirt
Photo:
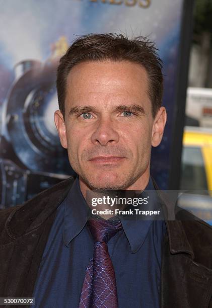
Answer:
[[[73, 182], [0, 211], [0, 297], [32, 296], [56, 208]], [[166, 220], [166, 227], [161, 308], [212, 308], [212, 227], [202, 220]]]

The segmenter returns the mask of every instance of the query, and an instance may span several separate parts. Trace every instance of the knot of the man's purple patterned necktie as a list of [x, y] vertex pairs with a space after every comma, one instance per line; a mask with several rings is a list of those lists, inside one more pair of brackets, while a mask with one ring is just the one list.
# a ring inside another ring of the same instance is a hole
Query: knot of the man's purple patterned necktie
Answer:
[[112, 224], [106, 220], [88, 220], [88, 227], [95, 242], [107, 243], [119, 230], [122, 229], [121, 222]]

